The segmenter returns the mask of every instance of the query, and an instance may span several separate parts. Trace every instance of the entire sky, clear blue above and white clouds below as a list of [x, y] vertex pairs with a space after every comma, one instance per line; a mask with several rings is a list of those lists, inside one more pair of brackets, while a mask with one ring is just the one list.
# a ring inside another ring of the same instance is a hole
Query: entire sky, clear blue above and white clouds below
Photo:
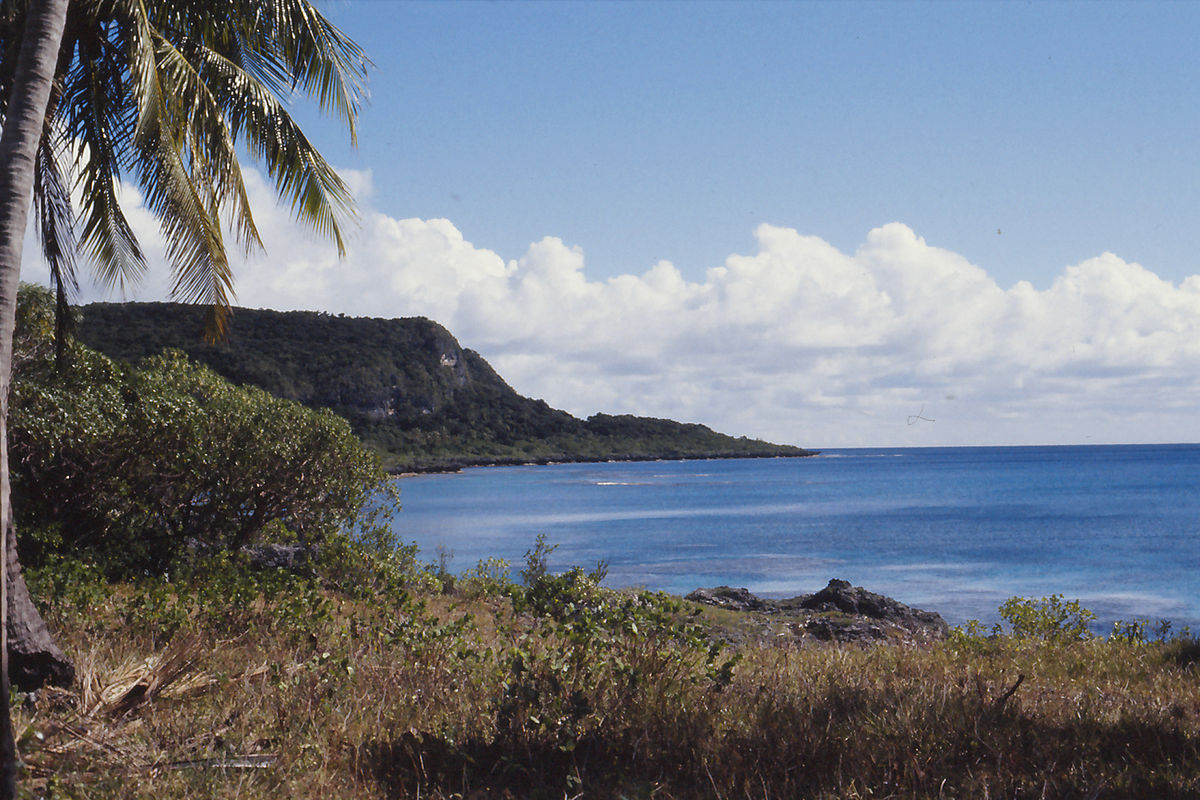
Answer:
[[580, 416], [1200, 441], [1198, 4], [319, 7], [374, 65], [358, 149], [294, 107], [358, 224], [248, 170], [241, 306], [428, 317]]

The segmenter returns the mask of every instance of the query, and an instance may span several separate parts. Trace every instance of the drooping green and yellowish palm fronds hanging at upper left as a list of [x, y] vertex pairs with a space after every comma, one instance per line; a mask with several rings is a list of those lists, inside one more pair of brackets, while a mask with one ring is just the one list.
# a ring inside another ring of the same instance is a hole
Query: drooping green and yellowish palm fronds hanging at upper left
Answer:
[[[28, 6], [0, 0], [0, 116]], [[354, 142], [367, 67], [311, 0], [72, 0], [58, 71], [61, 116], [47, 115], [68, 149], [47, 146], [38, 178], [43, 247], [62, 297], [74, 290], [76, 246], [109, 288], [144, 273], [119, 201], [128, 173], [158, 218], [173, 295], [211, 303], [210, 333], [222, 327], [233, 296], [222, 219], [247, 249], [262, 246], [238, 162], [242, 144], [296, 217], [344, 253], [350, 192], [284, 103], [300, 94], [316, 100]], [[78, 229], [67, 161], [82, 193]]]

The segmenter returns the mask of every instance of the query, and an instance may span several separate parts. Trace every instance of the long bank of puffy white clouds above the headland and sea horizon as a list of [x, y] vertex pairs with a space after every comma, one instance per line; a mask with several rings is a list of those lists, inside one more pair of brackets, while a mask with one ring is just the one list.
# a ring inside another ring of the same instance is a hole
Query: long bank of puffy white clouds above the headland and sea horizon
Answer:
[[[764, 223], [755, 252], [697, 279], [670, 261], [598, 279], [553, 236], [506, 259], [449, 219], [372, 210], [367, 174], [340, 260], [248, 178], [268, 254], [239, 265], [239, 305], [428, 317], [577, 415], [817, 447], [1200, 440], [1200, 276], [1176, 285], [1103, 253], [1006, 289], [893, 222], [853, 253]], [[167, 285], [160, 265], [128, 297]]]

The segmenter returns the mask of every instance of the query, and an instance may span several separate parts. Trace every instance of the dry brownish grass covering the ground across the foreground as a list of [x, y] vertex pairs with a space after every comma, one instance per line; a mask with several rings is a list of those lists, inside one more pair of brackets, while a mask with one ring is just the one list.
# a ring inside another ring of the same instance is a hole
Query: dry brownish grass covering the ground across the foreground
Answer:
[[1181, 644], [781, 637], [721, 675], [727, 652], [665, 624], [584, 631], [504, 597], [152, 630], [134, 595], [50, 609], [79, 680], [18, 705], [29, 796], [1200, 796]]

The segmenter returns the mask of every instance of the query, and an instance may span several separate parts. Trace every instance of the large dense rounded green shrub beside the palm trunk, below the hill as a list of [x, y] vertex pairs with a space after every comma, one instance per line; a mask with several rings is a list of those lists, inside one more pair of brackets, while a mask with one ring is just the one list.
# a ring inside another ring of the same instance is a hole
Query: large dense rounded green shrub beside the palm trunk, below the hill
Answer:
[[36, 293], [23, 303], [10, 417], [26, 563], [90, 553], [109, 572], [161, 572], [184, 551], [311, 545], [385, 487], [341, 417], [234, 386], [181, 353], [128, 366], [77, 347], [56, 369], [36, 344], [41, 309]]

